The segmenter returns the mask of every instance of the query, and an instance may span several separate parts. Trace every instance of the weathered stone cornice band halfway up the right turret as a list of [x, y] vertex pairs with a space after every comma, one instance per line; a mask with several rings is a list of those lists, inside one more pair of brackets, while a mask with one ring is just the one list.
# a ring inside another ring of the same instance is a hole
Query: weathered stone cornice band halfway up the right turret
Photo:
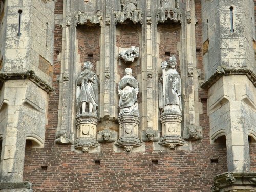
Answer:
[[201, 84], [200, 87], [203, 89], [209, 89], [216, 81], [218, 81], [224, 75], [246, 75], [256, 87], [256, 75], [255, 73], [253, 73], [253, 71], [246, 68], [237, 69], [225, 66], [219, 66], [216, 72], [211, 75], [207, 81]]

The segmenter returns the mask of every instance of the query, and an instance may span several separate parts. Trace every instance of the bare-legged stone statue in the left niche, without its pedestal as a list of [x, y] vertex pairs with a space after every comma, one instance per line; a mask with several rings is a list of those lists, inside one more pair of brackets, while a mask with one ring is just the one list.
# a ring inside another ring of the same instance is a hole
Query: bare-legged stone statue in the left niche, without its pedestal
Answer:
[[91, 62], [86, 61], [83, 68], [84, 70], [78, 75], [76, 81], [76, 114], [86, 114], [86, 106], [88, 106], [89, 114], [96, 114], [96, 106], [98, 106], [97, 76], [92, 71]]

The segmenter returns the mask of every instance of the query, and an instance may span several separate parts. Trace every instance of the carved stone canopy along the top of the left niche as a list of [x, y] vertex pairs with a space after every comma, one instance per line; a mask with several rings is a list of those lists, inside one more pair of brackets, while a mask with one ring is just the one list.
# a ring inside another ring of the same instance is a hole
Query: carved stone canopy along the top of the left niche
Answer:
[[75, 15], [75, 23], [76, 25], [84, 25], [84, 24], [100, 24], [102, 23], [102, 13], [97, 12], [95, 13], [82, 13], [78, 11]]

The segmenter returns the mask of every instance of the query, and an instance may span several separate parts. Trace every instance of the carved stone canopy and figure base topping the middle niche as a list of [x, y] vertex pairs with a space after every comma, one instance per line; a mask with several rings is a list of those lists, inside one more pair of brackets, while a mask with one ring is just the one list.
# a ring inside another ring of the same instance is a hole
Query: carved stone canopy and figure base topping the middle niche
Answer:
[[133, 23], [142, 24], [142, 11], [137, 9], [137, 0], [121, 0], [122, 11], [115, 13], [116, 23], [131, 20]]

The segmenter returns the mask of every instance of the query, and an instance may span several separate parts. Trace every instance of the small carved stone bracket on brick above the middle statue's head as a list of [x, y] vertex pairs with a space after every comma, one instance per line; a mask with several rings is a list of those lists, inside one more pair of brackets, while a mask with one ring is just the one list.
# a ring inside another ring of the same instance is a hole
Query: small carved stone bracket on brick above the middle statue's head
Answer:
[[139, 58], [139, 47], [131, 46], [130, 49], [123, 50], [119, 53], [119, 58], [124, 61], [125, 64], [130, 65]]

